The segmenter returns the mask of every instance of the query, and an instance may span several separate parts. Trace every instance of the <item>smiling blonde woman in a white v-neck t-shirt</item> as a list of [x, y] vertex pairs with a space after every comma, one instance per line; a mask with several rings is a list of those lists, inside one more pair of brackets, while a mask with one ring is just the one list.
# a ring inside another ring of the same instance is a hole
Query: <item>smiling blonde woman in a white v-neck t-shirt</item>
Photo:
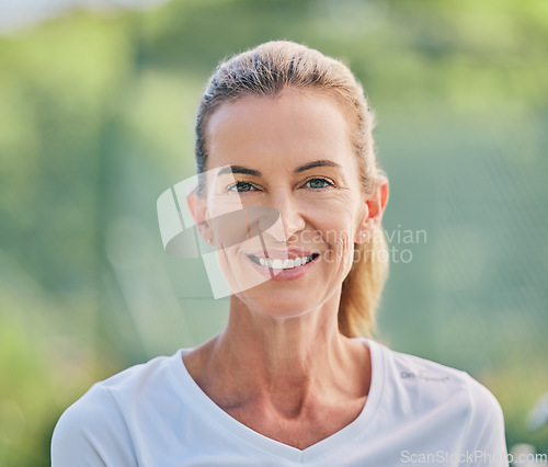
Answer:
[[483, 386], [359, 337], [387, 275], [372, 128], [352, 72], [317, 50], [271, 42], [217, 68], [189, 207], [228, 324], [94, 385], [56, 426], [55, 467], [507, 465]]

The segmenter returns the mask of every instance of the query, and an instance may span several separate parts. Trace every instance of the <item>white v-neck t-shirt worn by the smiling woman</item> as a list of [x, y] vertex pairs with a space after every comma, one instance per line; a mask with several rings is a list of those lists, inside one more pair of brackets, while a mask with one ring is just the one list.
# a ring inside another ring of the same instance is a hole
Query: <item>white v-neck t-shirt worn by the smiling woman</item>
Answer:
[[160, 356], [93, 385], [55, 428], [53, 467], [507, 466], [493, 395], [467, 373], [363, 340], [372, 385], [361, 414], [302, 451], [249, 429]]

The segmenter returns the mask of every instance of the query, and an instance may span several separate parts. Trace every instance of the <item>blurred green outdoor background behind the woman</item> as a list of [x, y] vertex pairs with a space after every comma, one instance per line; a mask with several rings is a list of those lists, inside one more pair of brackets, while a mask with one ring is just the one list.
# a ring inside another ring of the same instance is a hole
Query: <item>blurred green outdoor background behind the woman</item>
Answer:
[[378, 339], [469, 372], [509, 446], [548, 452], [526, 425], [548, 390], [548, 2], [173, 0], [0, 36], [1, 466], [49, 465], [94, 381], [222, 328], [156, 201], [193, 174], [214, 67], [274, 38], [345, 60], [376, 110], [397, 260]]

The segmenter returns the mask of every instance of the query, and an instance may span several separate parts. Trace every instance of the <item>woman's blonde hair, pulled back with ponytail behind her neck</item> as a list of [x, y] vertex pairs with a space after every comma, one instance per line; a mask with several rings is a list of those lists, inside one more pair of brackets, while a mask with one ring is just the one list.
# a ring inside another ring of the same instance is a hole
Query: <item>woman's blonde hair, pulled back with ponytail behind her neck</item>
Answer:
[[[362, 187], [370, 195], [379, 175], [386, 174], [375, 158], [374, 114], [362, 86], [343, 62], [287, 41], [267, 42], [217, 67], [196, 116], [197, 173], [204, 173], [207, 166], [207, 122], [222, 103], [244, 95], [274, 98], [287, 87], [328, 93], [343, 105], [352, 127]], [[201, 183], [198, 192], [202, 189]], [[387, 252], [380, 226], [367, 243], [354, 244], [355, 261], [343, 282], [339, 307], [339, 329], [344, 335], [370, 335], [374, 331], [375, 311], [388, 276]]]

